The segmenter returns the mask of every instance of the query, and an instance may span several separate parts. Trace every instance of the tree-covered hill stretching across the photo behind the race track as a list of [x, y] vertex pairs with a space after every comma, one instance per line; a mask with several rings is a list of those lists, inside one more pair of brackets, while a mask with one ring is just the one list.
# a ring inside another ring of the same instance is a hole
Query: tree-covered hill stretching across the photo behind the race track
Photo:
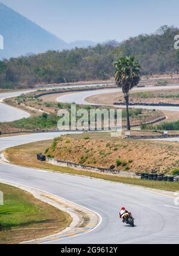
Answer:
[[176, 72], [179, 71], [179, 51], [174, 49], [177, 34], [178, 28], [163, 26], [155, 34], [139, 35], [120, 44], [111, 41], [87, 49], [48, 51], [4, 60], [0, 62], [0, 86], [26, 88], [39, 82], [109, 79], [113, 76], [113, 62], [122, 55], [135, 55], [141, 62], [142, 74]]

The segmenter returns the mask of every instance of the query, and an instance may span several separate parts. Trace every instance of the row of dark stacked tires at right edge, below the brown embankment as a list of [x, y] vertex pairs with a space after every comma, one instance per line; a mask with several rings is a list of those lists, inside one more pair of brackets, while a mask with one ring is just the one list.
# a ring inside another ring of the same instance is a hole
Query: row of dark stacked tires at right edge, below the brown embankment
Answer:
[[158, 180], [164, 182], [179, 182], [179, 176], [165, 176], [163, 173], [140, 173], [141, 180]]

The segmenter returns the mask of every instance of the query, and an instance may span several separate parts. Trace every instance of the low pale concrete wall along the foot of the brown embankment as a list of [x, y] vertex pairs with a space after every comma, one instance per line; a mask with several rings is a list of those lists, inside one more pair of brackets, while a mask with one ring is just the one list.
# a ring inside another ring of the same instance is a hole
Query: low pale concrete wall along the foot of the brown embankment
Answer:
[[128, 173], [127, 171], [120, 170], [110, 170], [109, 168], [100, 168], [100, 167], [92, 167], [88, 165], [76, 164], [75, 162], [69, 161], [57, 161], [53, 158], [47, 157], [46, 161], [49, 164], [61, 166], [61, 167], [69, 167], [75, 170], [83, 170], [83, 171], [92, 171], [96, 173], [104, 173], [104, 174], [113, 174], [121, 177], [131, 177], [131, 178], [139, 178], [136, 173]]

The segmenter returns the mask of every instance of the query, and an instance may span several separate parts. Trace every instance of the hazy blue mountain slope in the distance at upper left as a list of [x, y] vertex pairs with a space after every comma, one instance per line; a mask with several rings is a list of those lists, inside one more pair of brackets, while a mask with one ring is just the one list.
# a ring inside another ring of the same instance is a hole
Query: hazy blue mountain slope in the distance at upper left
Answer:
[[4, 50], [0, 50], [0, 59], [42, 53], [47, 50], [95, 46], [92, 41], [68, 44], [1, 2], [0, 17], [0, 35], [4, 37]]

